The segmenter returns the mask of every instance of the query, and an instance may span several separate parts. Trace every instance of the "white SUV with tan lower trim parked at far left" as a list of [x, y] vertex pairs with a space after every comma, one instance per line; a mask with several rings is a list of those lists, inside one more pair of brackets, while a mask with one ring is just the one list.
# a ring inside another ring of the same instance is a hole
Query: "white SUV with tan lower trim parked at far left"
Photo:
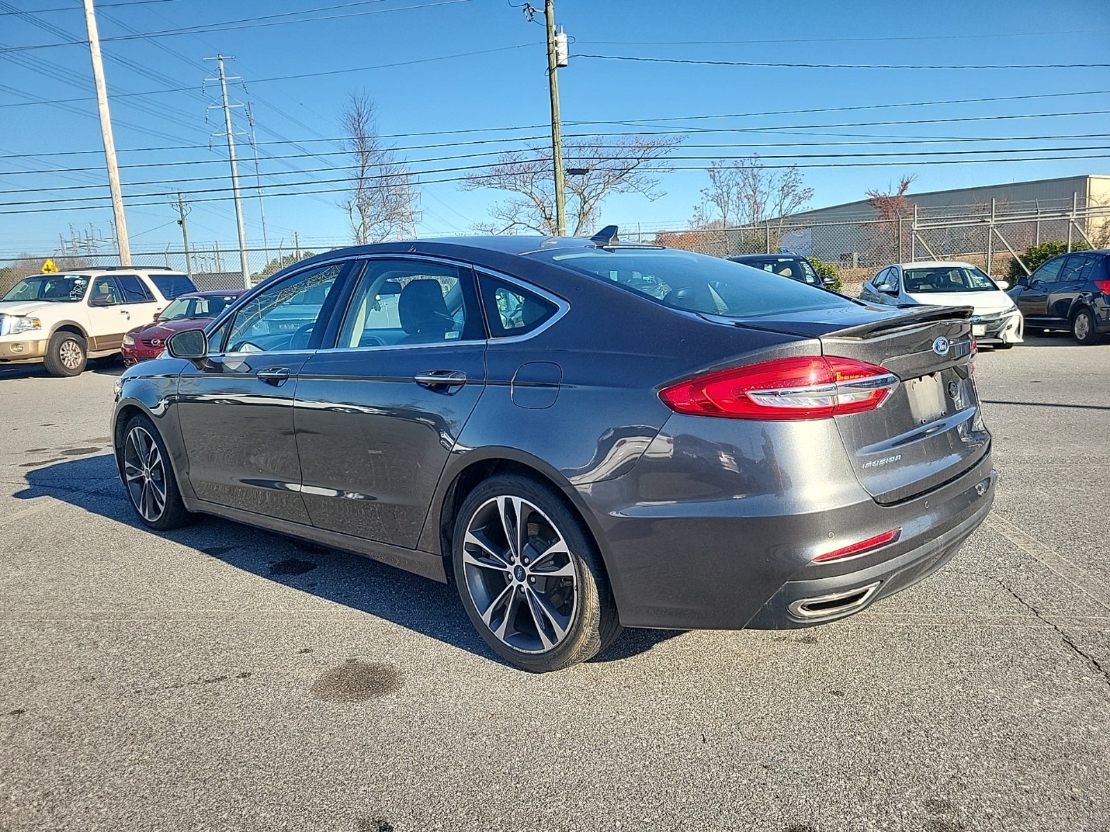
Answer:
[[79, 375], [89, 358], [120, 352], [128, 329], [195, 291], [188, 275], [170, 268], [78, 268], [24, 277], [0, 300], [0, 365], [42, 362], [52, 376]]

